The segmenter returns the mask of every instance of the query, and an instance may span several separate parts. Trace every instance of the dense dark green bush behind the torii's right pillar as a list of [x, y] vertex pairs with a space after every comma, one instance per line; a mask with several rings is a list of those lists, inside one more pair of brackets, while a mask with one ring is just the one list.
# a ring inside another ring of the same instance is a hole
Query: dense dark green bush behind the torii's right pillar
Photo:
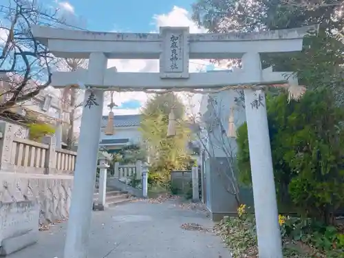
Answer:
[[[344, 206], [344, 111], [332, 92], [306, 92], [297, 102], [268, 96], [272, 161], [279, 202], [331, 224]], [[238, 129], [240, 180], [251, 184], [247, 125]]]

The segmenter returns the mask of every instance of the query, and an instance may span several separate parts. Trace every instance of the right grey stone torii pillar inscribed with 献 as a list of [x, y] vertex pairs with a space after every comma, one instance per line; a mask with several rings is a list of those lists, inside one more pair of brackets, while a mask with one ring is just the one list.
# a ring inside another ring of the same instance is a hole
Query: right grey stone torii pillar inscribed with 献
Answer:
[[[261, 81], [259, 53], [246, 53], [241, 61], [246, 79]], [[244, 92], [259, 257], [283, 258], [265, 94], [259, 88]]]

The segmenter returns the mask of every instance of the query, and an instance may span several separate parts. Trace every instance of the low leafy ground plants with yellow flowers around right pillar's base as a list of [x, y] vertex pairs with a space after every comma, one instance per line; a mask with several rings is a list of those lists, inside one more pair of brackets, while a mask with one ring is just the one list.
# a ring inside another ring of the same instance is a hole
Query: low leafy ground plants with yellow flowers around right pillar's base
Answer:
[[[249, 208], [249, 207], [248, 207]], [[238, 217], [228, 217], [217, 228], [229, 246], [233, 258], [258, 257], [255, 217], [246, 211], [246, 205], [237, 209]], [[344, 235], [333, 226], [279, 215], [283, 257], [339, 258], [344, 253]]]

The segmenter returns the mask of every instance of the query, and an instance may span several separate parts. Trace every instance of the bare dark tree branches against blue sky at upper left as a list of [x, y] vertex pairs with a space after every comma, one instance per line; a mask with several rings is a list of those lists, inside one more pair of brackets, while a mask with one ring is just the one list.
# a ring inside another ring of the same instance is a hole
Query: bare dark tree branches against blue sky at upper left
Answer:
[[45, 9], [36, 0], [8, 0], [0, 5], [0, 113], [51, 83], [56, 58], [34, 39], [32, 25], [67, 26], [57, 9]]

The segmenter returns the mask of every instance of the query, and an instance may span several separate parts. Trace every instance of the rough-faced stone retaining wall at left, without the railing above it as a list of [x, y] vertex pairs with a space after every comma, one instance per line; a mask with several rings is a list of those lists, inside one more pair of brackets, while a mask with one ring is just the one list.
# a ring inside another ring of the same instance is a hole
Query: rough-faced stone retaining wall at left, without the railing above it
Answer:
[[72, 175], [0, 172], [0, 202], [32, 200], [39, 206], [39, 223], [48, 224], [68, 217], [72, 185]]

